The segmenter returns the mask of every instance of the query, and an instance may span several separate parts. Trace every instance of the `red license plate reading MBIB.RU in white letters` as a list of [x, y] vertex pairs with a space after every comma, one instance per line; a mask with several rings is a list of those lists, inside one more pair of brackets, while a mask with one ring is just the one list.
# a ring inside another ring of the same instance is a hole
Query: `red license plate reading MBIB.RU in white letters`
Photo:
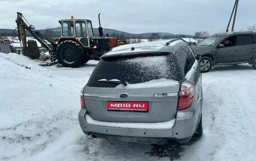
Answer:
[[108, 111], [147, 112], [148, 102], [107, 102]]

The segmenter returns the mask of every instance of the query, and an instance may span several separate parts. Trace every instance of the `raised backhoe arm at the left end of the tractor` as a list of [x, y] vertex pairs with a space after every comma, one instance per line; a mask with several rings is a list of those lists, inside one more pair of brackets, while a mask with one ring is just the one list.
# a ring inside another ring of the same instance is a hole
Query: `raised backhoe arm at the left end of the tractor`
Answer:
[[[28, 21], [26, 21], [25, 17], [22, 15], [22, 13], [17, 12], [17, 19], [16, 19], [16, 24], [17, 24], [17, 30], [18, 30], [18, 37], [20, 42], [22, 43], [22, 52], [26, 53], [26, 51], [32, 51], [34, 49], [29, 49], [30, 46], [33, 45], [29, 45], [26, 42], [26, 31], [29, 31], [29, 33], [36, 39], [38, 40], [39, 43], [41, 43], [43, 45], [43, 47], [45, 47], [50, 56], [52, 57], [51, 61], [56, 61], [56, 48], [57, 48], [57, 44], [55, 42], [53, 42], [52, 40], [49, 40], [45, 35], [43, 35], [42, 33], [40, 33], [39, 31], [37, 31], [35, 29], [35, 27], [33, 25], [30, 25], [28, 23]], [[51, 45], [49, 45], [49, 43], [51, 43]]]

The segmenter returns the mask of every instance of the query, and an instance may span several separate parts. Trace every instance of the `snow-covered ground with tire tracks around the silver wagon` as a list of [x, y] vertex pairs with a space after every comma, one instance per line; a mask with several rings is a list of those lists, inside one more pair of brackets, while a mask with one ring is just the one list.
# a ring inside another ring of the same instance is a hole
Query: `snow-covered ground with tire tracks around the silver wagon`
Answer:
[[255, 160], [256, 70], [203, 73], [204, 134], [186, 144], [143, 145], [93, 139], [80, 129], [79, 94], [97, 61], [42, 67], [0, 53], [0, 160]]

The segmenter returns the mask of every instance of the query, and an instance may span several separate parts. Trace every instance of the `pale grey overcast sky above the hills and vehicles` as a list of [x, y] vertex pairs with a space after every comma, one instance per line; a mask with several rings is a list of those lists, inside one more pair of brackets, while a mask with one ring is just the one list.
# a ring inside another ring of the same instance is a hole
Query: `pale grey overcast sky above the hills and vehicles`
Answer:
[[[194, 35], [225, 31], [235, 0], [0, 0], [0, 28], [16, 28], [16, 12], [36, 29], [58, 27], [58, 20], [89, 19], [99, 27], [127, 33], [165, 32]], [[256, 24], [256, 1], [240, 0], [235, 30]]]

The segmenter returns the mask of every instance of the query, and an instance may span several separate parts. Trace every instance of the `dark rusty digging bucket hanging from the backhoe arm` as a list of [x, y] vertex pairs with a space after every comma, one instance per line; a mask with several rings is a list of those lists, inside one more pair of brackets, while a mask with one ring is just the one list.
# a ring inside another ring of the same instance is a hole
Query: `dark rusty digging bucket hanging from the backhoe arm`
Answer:
[[28, 40], [28, 47], [24, 51], [24, 55], [31, 59], [38, 59], [40, 51], [35, 40]]

